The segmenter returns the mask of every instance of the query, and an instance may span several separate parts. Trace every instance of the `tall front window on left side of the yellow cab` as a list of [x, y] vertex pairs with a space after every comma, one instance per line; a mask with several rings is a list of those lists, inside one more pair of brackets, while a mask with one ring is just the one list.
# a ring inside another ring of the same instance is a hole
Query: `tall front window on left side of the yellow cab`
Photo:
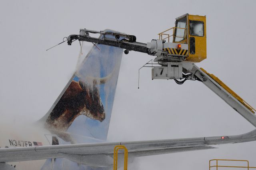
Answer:
[[187, 17], [176, 21], [174, 42], [181, 42], [186, 39]]

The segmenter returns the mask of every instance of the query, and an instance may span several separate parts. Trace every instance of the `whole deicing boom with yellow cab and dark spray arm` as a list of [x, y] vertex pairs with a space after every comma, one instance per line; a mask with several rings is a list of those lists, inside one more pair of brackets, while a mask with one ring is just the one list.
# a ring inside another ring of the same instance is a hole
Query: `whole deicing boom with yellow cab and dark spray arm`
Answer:
[[[100, 36], [94, 38], [90, 33]], [[125, 54], [132, 50], [154, 56], [152, 80], [173, 79], [177, 84], [198, 80], [256, 127], [256, 110], [216, 76], [195, 65], [206, 59], [206, 16], [184, 14], [176, 18], [174, 27], [148, 43], [136, 42], [136, 36], [120, 32], [87, 29], [80, 29], [79, 35], [70, 35], [66, 41], [71, 45], [75, 40], [123, 48]]]

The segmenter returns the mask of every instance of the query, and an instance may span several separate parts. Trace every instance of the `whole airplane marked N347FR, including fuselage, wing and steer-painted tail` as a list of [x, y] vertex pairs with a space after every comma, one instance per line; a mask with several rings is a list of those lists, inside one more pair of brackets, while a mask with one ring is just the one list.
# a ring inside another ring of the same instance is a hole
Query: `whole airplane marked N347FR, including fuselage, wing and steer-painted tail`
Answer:
[[[36, 126], [11, 130], [0, 138], [0, 170], [111, 169], [116, 145], [127, 147], [132, 162], [139, 156], [256, 140], [253, 130], [236, 136], [106, 142], [122, 54], [120, 48], [93, 46]], [[24, 135], [26, 128], [30, 130]]]

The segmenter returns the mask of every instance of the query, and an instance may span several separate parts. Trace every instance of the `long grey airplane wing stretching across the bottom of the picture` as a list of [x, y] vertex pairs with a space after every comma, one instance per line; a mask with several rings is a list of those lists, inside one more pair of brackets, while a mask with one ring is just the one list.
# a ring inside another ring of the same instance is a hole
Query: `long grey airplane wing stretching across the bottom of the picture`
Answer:
[[80, 164], [90, 165], [94, 164], [93, 160], [100, 159], [102, 162], [99, 163], [99, 161], [97, 161], [97, 165], [101, 164], [101, 166], [112, 166], [113, 150], [116, 145], [126, 146], [130, 157], [210, 149], [214, 148], [210, 145], [241, 143], [254, 140], [256, 140], [256, 130], [234, 136], [0, 148], [0, 162], [17, 162], [65, 157]]

